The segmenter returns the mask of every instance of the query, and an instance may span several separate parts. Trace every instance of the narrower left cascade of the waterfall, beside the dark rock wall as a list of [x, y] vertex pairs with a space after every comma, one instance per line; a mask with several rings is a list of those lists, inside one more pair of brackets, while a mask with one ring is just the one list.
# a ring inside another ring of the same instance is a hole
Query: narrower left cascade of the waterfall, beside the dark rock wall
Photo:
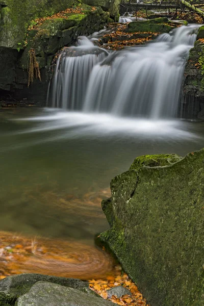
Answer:
[[81, 110], [91, 70], [107, 55], [86, 37], [81, 37], [78, 44], [64, 48], [58, 59], [52, 84], [53, 107]]

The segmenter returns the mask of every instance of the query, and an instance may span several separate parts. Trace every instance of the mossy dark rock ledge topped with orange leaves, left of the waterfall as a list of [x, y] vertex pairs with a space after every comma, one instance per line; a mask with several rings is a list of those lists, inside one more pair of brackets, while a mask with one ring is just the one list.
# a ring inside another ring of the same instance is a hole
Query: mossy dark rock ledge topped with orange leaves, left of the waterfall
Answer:
[[[52, 18], [44, 20], [37, 29], [28, 32], [28, 45], [19, 60], [19, 67], [27, 69], [30, 48], [35, 49], [39, 67], [50, 64], [53, 55], [62, 47], [73, 44], [79, 35], [90, 35], [100, 30], [106, 24], [109, 13], [96, 7], [83, 5], [82, 13], [67, 14], [66, 18]], [[85, 13], [86, 12], [86, 13]]]

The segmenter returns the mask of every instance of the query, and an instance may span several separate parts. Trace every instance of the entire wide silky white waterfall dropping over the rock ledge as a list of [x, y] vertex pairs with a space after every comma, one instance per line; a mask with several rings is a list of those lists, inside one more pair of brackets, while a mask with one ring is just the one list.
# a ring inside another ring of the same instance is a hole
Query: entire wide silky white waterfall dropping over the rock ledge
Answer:
[[81, 38], [58, 59], [48, 105], [84, 113], [175, 117], [195, 29], [183, 25], [147, 45], [110, 53]]

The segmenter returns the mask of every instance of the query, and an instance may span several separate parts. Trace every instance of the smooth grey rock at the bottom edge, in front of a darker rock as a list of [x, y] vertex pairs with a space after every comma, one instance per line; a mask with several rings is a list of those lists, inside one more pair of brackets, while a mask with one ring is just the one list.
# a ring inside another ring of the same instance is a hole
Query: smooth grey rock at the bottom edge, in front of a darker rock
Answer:
[[17, 299], [16, 306], [114, 306], [114, 303], [56, 284], [38, 282]]

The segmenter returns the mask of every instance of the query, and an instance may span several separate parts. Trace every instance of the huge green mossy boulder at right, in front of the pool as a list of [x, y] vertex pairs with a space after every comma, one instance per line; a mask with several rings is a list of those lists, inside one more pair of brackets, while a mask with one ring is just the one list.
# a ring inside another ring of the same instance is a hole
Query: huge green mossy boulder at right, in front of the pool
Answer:
[[[166, 162], [165, 162], [166, 159]], [[100, 235], [151, 306], [204, 305], [204, 149], [136, 158], [102, 202]]]

